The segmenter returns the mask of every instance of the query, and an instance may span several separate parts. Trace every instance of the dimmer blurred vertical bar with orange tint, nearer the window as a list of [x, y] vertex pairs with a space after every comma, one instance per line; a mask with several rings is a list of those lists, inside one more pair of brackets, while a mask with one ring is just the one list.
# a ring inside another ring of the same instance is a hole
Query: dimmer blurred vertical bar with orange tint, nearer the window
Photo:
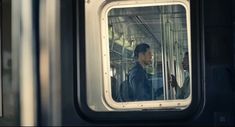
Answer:
[[40, 0], [42, 125], [61, 124], [60, 0]]

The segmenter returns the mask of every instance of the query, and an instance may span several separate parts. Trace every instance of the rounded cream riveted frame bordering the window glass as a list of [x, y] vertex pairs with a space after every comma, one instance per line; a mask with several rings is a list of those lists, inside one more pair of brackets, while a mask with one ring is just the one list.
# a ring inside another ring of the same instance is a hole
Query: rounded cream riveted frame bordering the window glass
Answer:
[[[186, 99], [179, 100], [151, 100], [137, 102], [116, 102], [112, 98], [111, 80], [110, 80], [110, 56], [109, 56], [109, 33], [108, 33], [108, 12], [114, 8], [130, 7], [150, 7], [182, 5], [186, 10], [188, 52], [189, 52], [189, 72], [190, 72], [190, 95]], [[103, 96], [104, 102], [110, 108], [117, 110], [141, 110], [141, 109], [186, 109], [192, 100], [192, 67], [191, 67], [191, 28], [190, 28], [190, 3], [188, 0], [134, 0], [134, 1], [114, 1], [106, 4], [101, 10], [101, 50], [103, 64]]]

